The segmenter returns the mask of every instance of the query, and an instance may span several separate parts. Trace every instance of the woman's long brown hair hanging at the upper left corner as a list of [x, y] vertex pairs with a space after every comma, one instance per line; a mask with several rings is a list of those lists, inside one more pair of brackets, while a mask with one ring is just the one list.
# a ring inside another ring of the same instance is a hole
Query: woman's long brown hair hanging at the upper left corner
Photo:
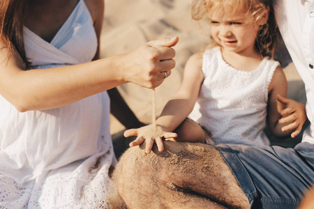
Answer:
[[28, 0], [0, 1], [0, 37], [11, 54], [16, 50], [29, 68], [24, 49], [23, 26]]

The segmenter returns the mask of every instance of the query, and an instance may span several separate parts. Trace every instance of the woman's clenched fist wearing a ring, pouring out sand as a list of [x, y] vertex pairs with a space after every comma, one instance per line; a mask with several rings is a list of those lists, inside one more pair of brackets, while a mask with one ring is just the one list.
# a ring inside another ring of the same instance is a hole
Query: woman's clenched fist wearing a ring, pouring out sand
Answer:
[[126, 82], [155, 88], [163, 83], [175, 66], [173, 60], [176, 52], [172, 47], [179, 41], [178, 37], [164, 38], [147, 42], [134, 52], [124, 56], [121, 61], [126, 66]]

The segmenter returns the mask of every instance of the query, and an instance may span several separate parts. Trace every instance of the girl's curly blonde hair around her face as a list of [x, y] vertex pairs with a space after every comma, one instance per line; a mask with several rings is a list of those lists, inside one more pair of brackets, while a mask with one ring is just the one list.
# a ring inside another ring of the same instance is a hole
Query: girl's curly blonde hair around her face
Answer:
[[[247, 11], [253, 20], [257, 22], [262, 17], [265, 10], [269, 8], [269, 18], [267, 23], [260, 27], [255, 40], [255, 49], [262, 56], [274, 57], [278, 41], [278, 26], [276, 24], [272, 0], [193, 0], [191, 15], [193, 20], [205, 20], [214, 10], [227, 8], [234, 12], [238, 10]], [[211, 38], [211, 45], [217, 45]]]

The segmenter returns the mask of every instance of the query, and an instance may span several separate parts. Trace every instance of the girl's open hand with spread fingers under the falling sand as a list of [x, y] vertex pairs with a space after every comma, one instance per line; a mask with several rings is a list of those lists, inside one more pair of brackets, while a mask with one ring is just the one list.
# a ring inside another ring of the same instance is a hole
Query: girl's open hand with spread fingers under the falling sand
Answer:
[[130, 129], [124, 132], [124, 137], [134, 137], [137, 138], [130, 143], [130, 146], [137, 146], [146, 141], [145, 152], [147, 154], [151, 153], [151, 148], [156, 142], [158, 151], [163, 152], [163, 139], [177, 137], [176, 133], [165, 132], [161, 125], [147, 125], [137, 129]]

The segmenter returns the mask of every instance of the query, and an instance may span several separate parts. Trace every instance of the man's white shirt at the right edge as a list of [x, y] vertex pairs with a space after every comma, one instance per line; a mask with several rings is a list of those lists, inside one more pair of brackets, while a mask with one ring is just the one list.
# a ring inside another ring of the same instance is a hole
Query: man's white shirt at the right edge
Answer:
[[314, 3], [276, 0], [276, 21], [288, 52], [306, 88], [306, 114], [311, 125], [302, 142], [314, 144]]

